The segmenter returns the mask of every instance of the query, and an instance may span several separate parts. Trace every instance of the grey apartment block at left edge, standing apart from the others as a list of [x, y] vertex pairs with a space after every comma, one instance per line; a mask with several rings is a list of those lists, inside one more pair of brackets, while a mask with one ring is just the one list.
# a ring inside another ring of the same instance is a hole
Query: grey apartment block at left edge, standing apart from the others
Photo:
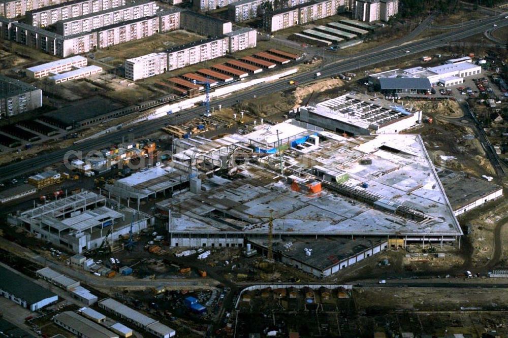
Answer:
[[42, 107], [42, 90], [0, 75], [0, 119]]

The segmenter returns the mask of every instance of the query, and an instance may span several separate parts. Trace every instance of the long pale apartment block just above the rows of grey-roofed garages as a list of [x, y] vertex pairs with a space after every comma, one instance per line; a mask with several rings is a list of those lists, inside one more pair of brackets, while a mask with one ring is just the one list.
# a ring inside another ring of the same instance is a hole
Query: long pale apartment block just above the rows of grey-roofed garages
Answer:
[[345, 0], [321, 0], [302, 3], [295, 7], [268, 12], [263, 15], [263, 27], [273, 32], [296, 25], [324, 19], [337, 14]]

